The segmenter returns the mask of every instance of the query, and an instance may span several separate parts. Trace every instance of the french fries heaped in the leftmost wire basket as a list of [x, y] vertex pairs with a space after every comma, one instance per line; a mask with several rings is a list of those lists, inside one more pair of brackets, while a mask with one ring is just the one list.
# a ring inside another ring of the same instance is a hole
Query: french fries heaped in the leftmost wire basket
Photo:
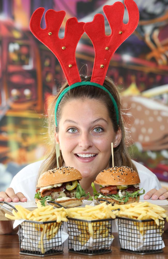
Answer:
[[40, 232], [40, 241], [38, 248], [41, 248], [42, 254], [45, 253], [43, 244], [44, 235], [46, 234], [47, 239], [54, 238], [61, 226], [60, 222], [68, 221], [68, 219], [66, 218], [66, 212], [64, 211], [64, 208], [54, 208], [54, 206], [51, 205], [42, 206], [39, 203], [37, 203], [37, 208], [33, 211], [29, 211], [20, 205], [16, 205], [15, 207], [18, 212], [12, 210], [13, 216], [9, 215], [8, 213], [5, 213], [6, 218], [12, 220], [25, 219], [39, 222], [56, 221], [53, 223], [45, 224], [32, 223], [33, 230]]

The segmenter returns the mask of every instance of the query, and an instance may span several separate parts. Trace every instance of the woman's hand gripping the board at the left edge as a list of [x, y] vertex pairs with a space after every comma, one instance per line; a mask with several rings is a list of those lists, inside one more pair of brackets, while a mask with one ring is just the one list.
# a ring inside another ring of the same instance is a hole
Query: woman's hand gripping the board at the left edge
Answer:
[[21, 192], [15, 194], [12, 188], [7, 188], [5, 192], [0, 192], [0, 202], [27, 202], [27, 198]]

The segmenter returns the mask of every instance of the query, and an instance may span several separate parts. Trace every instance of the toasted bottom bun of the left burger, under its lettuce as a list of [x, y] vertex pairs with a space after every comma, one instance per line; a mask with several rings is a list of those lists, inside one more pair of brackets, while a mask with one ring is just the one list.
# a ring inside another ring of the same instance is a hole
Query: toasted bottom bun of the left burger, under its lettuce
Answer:
[[[84, 200], [85, 199], [85, 197], [82, 197], [82, 198], [80, 198], [80, 199], [67, 199], [67, 200], [55, 200], [55, 202], [57, 202], [57, 203], [59, 203], [60, 205], [62, 205], [62, 206], [64, 206], [64, 207], [77, 207], [77, 206], [80, 206], [80, 205], [82, 205], [82, 200]], [[41, 202], [40, 202], [40, 199], [35, 199], [35, 203], [40, 203], [41, 204]], [[47, 204], [47, 202], [45, 201], [45, 206], [47, 206], [48, 204]], [[51, 203], [51, 205], [52, 205], [52, 203]], [[56, 205], [56, 204], [54, 204], [53, 203], [53, 205], [55, 206], [55, 207], [58, 207], [58, 208], [60, 208], [58, 205]]]

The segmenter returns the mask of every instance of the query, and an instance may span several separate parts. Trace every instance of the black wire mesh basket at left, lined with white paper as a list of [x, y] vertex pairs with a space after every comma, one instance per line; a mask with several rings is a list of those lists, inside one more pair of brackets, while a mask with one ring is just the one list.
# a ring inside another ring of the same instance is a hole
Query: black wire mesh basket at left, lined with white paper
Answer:
[[25, 220], [19, 225], [20, 254], [47, 256], [63, 253], [63, 222]]

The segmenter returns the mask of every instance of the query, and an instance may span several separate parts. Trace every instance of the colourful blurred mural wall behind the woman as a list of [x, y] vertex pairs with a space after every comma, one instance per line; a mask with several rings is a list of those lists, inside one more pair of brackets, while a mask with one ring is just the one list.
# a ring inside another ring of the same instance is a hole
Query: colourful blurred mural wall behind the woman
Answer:
[[[65, 80], [54, 54], [29, 30], [33, 11], [65, 10], [66, 20], [92, 21], [103, 5], [115, 0], [0, 1], [0, 191], [26, 164], [44, 158], [48, 135], [45, 123], [50, 98]], [[124, 2], [124, 1], [120, 1]], [[108, 76], [118, 85], [133, 159], [168, 182], [168, 0], [135, 0], [138, 28], [116, 51]], [[124, 23], [128, 15], [125, 10]], [[45, 28], [44, 16], [41, 27]], [[111, 33], [105, 18], [105, 31]], [[94, 49], [86, 34], [77, 46], [81, 74], [91, 74]], [[126, 116], [126, 114], [128, 114]]]

